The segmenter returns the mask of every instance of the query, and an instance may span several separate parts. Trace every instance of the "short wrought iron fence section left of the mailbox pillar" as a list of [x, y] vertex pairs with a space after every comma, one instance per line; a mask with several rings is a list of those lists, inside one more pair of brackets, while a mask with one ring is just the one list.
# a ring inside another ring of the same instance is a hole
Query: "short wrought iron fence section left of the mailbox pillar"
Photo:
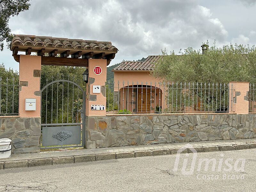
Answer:
[[19, 81], [0, 76], [0, 116], [19, 115]]

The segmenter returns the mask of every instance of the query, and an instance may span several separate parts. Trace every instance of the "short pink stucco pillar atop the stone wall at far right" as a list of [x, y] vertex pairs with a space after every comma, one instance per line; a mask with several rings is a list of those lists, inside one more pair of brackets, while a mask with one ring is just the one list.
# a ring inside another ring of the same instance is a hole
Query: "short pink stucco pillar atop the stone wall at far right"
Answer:
[[[232, 90], [231, 90], [232, 89]], [[249, 82], [229, 82], [229, 112], [249, 113]]]

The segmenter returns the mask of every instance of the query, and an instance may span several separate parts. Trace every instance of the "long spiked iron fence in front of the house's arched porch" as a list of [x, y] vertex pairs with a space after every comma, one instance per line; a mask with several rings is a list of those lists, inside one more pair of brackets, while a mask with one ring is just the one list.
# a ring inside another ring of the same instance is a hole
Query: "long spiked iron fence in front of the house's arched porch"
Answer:
[[233, 84], [106, 83], [108, 113], [186, 113], [232, 111]]

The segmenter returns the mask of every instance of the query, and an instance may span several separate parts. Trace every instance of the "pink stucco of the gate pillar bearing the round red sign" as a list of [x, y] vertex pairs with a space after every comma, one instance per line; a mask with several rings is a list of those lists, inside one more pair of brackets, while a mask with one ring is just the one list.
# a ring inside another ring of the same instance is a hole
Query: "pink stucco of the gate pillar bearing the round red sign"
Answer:
[[[99, 66], [102, 69], [100, 75], [95, 75], [93, 73], [94, 67]], [[105, 59], [89, 59], [89, 77], [94, 78], [95, 81], [93, 84], [87, 84], [86, 87], [86, 95], [88, 95], [88, 99], [86, 99], [86, 116], [106, 116], [106, 109], [105, 110], [91, 110], [91, 105], [105, 105], [106, 107], [106, 97], [100, 93], [92, 93], [92, 86], [93, 85], [100, 85], [105, 86], [105, 82], [107, 80], [107, 60]], [[89, 89], [91, 95], [97, 95], [96, 101], [89, 100]], [[86, 97], [87, 98], [87, 97]]]

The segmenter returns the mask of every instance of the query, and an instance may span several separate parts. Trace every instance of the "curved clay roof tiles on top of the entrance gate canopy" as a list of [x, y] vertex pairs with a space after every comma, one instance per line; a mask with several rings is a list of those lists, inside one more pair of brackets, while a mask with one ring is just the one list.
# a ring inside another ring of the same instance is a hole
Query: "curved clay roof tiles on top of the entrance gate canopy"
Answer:
[[32, 52], [38, 52], [45, 48], [45, 53], [58, 49], [58, 53], [70, 50], [70, 54], [82, 51], [82, 54], [93, 51], [94, 53], [104, 52], [105, 55], [117, 53], [118, 49], [107, 41], [90, 41], [82, 39], [56, 38], [50, 36], [15, 35], [12, 39], [11, 51], [18, 47], [18, 51], [26, 51], [28, 47]]

